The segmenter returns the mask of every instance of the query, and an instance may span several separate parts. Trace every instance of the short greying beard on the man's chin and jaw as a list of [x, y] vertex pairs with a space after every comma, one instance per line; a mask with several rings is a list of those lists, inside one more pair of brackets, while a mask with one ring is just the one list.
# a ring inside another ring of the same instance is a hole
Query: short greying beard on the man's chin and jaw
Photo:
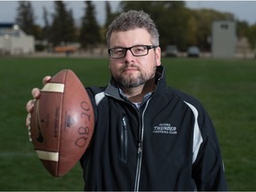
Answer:
[[[140, 86], [141, 84], [146, 84], [148, 82], [148, 80], [152, 79], [156, 74], [156, 66], [153, 68], [153, 70], [150, 74], [141, 72], [140, 68], [138, 68], [138, 67], [135, 67], [135, 68], [137, 68], [137, 70], [139, 72], [139, 74], [136, 76], [134, 74], [124, 75], [123, 73], [116, 75], [111, 70], [111, 68], [110, 68], [110, 73], [111, 73], [111, 76], [113, 76], [113, 78], [116, 80], [117, 84], [119, 84], [123, 87], [126, 87], [126, 88], [134, 88], [134, 87]], [[124, 70], [124, 69], [122, 69], [122, 70]]]

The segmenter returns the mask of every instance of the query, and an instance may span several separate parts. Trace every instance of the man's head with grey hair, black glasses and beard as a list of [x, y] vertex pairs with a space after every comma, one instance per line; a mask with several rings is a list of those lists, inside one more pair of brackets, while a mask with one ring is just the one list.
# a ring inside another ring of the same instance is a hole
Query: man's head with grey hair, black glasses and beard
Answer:
[[152, 86], [156, 66], [161, 65], [161, 49], [149, 15], [124, 12], [110, 24], [107, 36], [110, 73], [117, 84], [122, 88]]

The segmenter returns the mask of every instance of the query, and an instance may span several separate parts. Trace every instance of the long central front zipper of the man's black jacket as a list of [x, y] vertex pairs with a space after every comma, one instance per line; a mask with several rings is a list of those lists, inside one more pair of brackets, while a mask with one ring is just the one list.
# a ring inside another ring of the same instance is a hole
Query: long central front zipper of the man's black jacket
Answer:
[[144, 136], [144, 115], [145, 115], [146, 109], [148, 108], [149, 100], [150, 99], [148, 99], [146, 106], [143, 109], [141, 122], [140, 122], [140, 140], [139, 140], [138, 151], [137, 151], [138, 156], [137, 156], [137, 169], [136, 169], [134, 191], [139, 191], [140, 189], [140, 172], [141, 172], [142, 147], [143, 147], [143, 136]]

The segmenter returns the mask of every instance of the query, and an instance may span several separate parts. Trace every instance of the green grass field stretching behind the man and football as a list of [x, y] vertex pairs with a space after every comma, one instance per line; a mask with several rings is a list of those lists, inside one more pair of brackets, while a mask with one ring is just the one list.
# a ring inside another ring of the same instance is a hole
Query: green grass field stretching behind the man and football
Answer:
[[[256, 60], [163, 59], [167, 84], [194, 95], [212, 116], [229, 190], [256, 190]], [[107, 59], [0, 58], [0, 190], [83, 190], [80, 165], [53, 178], [28, 141], [25, 105], [42, 78], [71, 68], [108, 84]]]

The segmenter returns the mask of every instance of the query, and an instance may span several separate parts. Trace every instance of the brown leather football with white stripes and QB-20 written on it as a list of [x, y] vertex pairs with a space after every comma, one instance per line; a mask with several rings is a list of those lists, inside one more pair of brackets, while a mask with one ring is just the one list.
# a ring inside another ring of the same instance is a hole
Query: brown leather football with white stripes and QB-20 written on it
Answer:
[[31, 113], [29, 139], [44, 167], [55, 177], [69, 172], [84, 155], [94, 129], [91, 100], [70, 69], [44, 85]]

